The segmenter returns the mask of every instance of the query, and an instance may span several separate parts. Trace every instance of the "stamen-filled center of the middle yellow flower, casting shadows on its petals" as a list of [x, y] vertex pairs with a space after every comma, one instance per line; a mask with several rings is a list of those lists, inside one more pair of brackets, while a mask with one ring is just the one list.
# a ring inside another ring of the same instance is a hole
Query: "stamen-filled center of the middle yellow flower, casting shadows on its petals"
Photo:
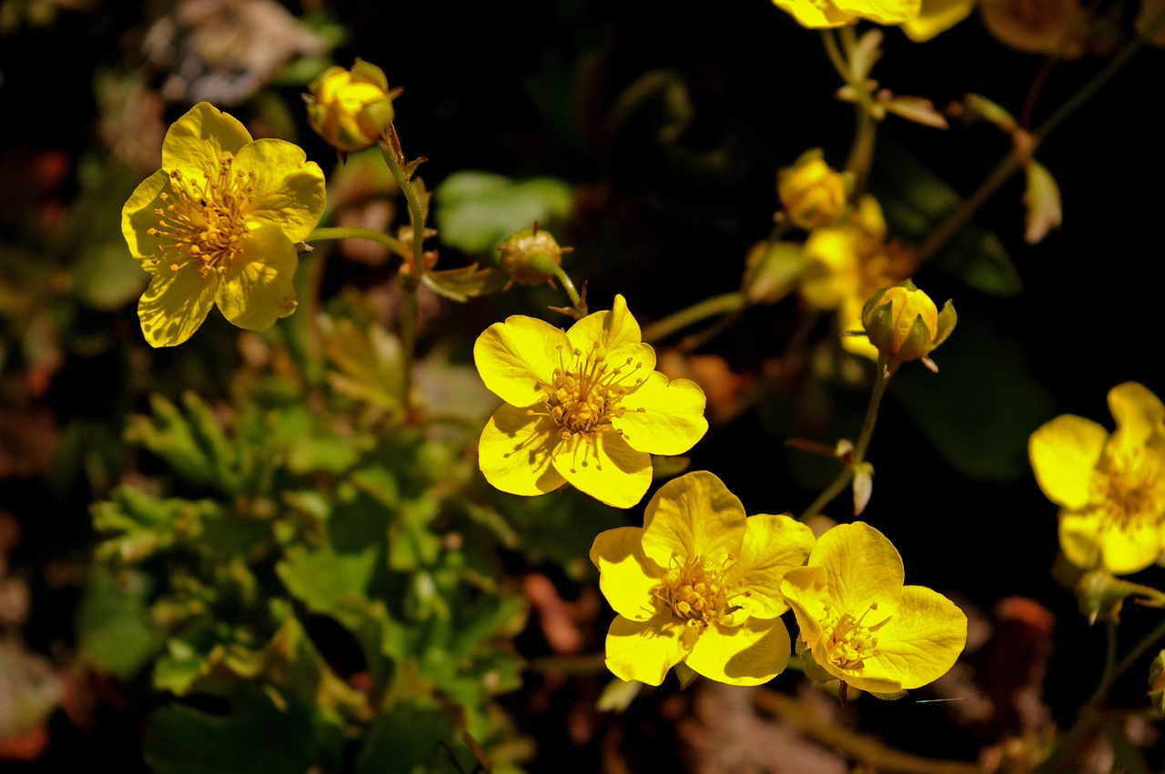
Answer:
[[610, 429], [612, 417], [620, 417], [624, 411], [619, 402], [643, 378], [635, 377], [630, 385], [623, 384], [623, 381], [634, 376], [643, 363], [633, 363], [628, 357], [626, 362], [612, 367], [598, 341], [585, 355], [580, 349], [574, 349], [570, 356], [563, 354], [563, 347], [558, 350], [559, 367], [555, 369], [551, 382], [543, 382], [541, 386], [546, 392], [543, 404], [562, 428], [563, 439], [574, 433]]

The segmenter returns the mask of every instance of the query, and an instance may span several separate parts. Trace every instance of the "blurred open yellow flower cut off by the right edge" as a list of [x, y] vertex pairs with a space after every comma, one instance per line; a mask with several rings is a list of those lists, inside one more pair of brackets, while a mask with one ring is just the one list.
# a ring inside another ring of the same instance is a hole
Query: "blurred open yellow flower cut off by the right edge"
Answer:
[[1123, 575], [1165, 548], [1165, 406], [1136, 382], [1108, 393], [1109, 433], [1064, 414], [1031, 435], [1028, 453], [1044, 495], [1060, 506], [1060, 548], [1082, 569]]

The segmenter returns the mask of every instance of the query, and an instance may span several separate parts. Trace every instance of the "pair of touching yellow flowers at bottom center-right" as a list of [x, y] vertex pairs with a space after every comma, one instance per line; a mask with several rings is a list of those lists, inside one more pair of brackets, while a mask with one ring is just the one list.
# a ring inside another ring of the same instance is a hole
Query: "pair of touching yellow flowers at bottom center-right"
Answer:
[[643, 527], [595, 538], [591, 561], [619, 613], [607, 666], [658, 686], [683, 662], [734, 686], [784, 670], [790, 606], [800, 637], [828, 677], [894, 694], [945, 674], [967, 641], [967, 618], [949, 599], [903, 585], [903, 564], [866, 524], [833, 527], [816, 542], [788, 516], [746, 517], [709, 473], [664, 484]]

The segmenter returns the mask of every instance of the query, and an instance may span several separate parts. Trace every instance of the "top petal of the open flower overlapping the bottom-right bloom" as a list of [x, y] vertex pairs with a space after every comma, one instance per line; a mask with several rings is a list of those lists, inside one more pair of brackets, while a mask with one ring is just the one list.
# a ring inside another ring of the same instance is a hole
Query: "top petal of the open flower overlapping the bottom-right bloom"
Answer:
[[643, 553], [661, 567], [702, 556], [713, 564], [740, 554], [744, 506], [705, 470], [669, 481], [643, 513]]

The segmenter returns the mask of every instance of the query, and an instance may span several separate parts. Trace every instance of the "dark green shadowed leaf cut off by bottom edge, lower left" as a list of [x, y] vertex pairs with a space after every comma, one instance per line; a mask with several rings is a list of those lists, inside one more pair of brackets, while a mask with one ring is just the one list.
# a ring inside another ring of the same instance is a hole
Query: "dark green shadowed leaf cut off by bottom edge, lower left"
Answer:
[[[142, 754], [156, 774], [304, 774], [316, 757], [311, 719], [241, 684], [223, 713], [174, 702], [147, 723]], [[388, 769], [386, 769], [388, 771]]]

